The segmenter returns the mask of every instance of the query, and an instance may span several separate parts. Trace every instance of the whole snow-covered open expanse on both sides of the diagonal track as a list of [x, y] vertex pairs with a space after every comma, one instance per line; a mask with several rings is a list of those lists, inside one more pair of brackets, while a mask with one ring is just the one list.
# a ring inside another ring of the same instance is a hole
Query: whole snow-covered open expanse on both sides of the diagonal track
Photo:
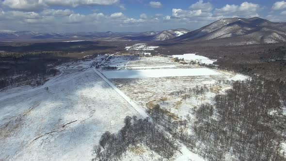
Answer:
[[[146, 117], [146, 103], [156, 100], [161, 107], [185, 117], [190, 108], [210, 101], [211, 96], [182, 102], [179, 97], [170, 97], [171, 92], [210, 86], [219, 80], [246, 79], [235, 73], [175, 63], [170, 57], [130, 61], [128, 56], [112, 56], [104, 61], [107, 57], [60, 65], [57, 68], [62, 73], [43, 86], [1, 91], [0, 161], [91, 160], [92, 148], [101, 134], [106, 130], [118, 132], [127, 115]], [[90, 68], [94, 62], [131, 70]], [[221, 91], [228, 88], [223, 86]], [[161, 101], [162, 97], [167, 99]], [[122, 161], [160, 159], [147, 147], [142, 149], [142, 154], [129, 149]], [[191, 160], [204, 161], [184, 145], [170, 159]]]

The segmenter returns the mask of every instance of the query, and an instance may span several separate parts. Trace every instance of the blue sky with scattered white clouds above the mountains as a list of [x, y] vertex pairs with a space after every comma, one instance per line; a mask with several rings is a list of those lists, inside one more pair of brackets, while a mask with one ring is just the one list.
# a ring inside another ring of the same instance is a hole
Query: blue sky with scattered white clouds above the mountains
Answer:
[[0, 0], [0, 30], [195, 30], [222, 18], [286, 21], [286, 0]]

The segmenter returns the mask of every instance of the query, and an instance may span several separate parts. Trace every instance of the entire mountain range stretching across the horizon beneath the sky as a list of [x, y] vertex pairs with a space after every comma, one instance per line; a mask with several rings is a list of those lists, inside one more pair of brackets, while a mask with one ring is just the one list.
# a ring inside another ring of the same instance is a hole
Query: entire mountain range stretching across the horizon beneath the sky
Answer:
[[137, 40], [137, 41], [224, 41], [229, 45], [277, 43], [286, 41], [286, 23], [253, 18], [226, 18], [191, 31], [175, 29], [148, 32], [73, 32], [41, 33], [32, 31], [0, 31], [0, 41], [49, 40]]

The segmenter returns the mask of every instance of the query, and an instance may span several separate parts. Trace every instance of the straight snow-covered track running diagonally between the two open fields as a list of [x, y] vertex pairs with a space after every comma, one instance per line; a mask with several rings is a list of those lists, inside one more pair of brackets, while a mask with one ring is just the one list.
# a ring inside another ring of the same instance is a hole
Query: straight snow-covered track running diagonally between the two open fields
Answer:
[[135, 102], [133, 102], [128, 96], [126, 96], [122, 91], [120, 91], [114, 84], [111, 83], [107, 78], [105, 78], [98, 70], [93, 68], [96, 74], [98, 74], [105, 82], [107, 82], [121, 97], [123, 97], [143, 118], [149, 117], [148, 114], [139, 107]]

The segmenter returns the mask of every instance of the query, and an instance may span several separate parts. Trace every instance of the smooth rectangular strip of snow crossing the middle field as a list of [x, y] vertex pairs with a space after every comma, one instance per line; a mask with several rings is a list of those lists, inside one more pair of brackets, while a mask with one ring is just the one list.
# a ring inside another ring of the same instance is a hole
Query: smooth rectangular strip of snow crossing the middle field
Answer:
[[101, 72], [108, 79], [157, 78], [220, 75], [208, 68], [146, 69], [146, 70], [112, 70]]

